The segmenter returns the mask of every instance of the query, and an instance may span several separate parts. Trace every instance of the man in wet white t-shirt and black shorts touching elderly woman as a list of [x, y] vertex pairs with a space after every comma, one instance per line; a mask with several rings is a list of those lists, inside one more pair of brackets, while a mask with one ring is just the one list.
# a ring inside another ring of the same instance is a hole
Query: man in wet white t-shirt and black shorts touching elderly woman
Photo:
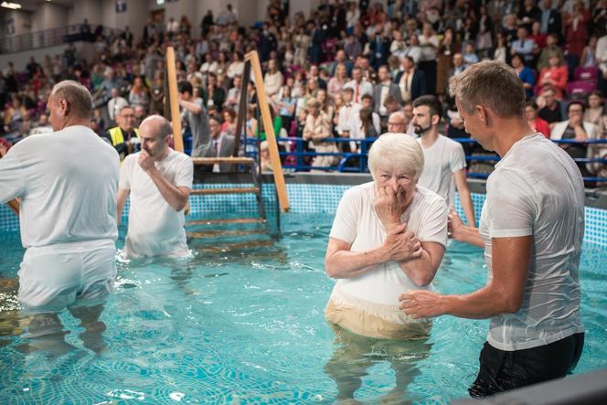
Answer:
[[451, 216], [453, 239], [485, 248], [487, 282], [464, 295], [406, 292], [400, 307], [413, 318], [491, 318], [480, 370], [468, 389], [474, 397], [565, 377], [584, 345], [580, 169], [528, 126], [523, 83], [504, 62], [465, 69], [451, 93], [466, 132], [502, 157], [487, 180], [480, 229]]

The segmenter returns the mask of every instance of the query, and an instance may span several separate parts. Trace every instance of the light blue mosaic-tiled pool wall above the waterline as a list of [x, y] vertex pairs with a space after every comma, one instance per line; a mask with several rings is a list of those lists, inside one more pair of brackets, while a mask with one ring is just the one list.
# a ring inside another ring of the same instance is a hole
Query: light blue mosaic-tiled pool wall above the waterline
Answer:
[[[246, 187], [246, 184], [240, 186]], [[252, 186], [252, 185], [251, 185]], [[234, 187], [233, 184], [205, 184], [195, 185], [194, 188], [221, 188]], [[327, 184], [287, 184], [289, 195], [290, 212], [293, 213], [335, 213], [337, 204], [346, 189], [351, 185], [327, 185]], [[273, 184], [263, 185], [263, 202], [266, 211], [271, 213], [276, 207], [276, 194]], [[480, 218], [480, 212], [485, 202], [485, 194], [473, 193], [474, 211], [476, 218]], [[459, 199], [455, 202], [455, 208], [460, 216], [463, 209]], [[257, 201], [253, 195], [206, 195], [192, 196], [190, 198], [190, 215], [202, 217], [206, 214], [218, 214], [221, 212], [242, 213], [254, 216], [257, 214]], [[607, 209], [586, 207], [586, 231], [584, 240], [594, 245], [607, 247]], [[122, 213], [122, 220], [126, 220], [128, 204]], [[269, 214], [270, 215], [270, 214]], [[0, 231], [16, 230], [19, 220], [16, 215], [5, 205], [0, 206]]]

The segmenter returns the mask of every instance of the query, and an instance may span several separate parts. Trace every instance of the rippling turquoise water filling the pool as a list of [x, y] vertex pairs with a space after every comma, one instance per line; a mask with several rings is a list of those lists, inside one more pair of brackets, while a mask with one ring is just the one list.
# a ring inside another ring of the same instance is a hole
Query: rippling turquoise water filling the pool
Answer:
[[[323, 317], [333, 286], [323, 266], [331, 222], [332, 216], [289, 214], [280, 241], [208, 235], [215, 238], [192, 240], [191, 261], [120, 263], [116, 293], [101, 315], [106, 349], [85, 348], [83, 329], [65, 312], [60, 319], [73, 348], [59, 357], [27, 349], [13, 282], [23, 250], [18, 235], [0, 235], [1, 402], [332, 403], [335, 380], [360, 385], [355, 398], [365, 403], [466, 397], [487, 321], [441, 317], [430, 339], [415, 345], [335, 339]], [[605, 264], [605, 250], [585, 247], [588, 332], [576, 372], [607, 367]], [[484, 283], [482, 251], [453, 243], [436, 288], [466, 293]]]

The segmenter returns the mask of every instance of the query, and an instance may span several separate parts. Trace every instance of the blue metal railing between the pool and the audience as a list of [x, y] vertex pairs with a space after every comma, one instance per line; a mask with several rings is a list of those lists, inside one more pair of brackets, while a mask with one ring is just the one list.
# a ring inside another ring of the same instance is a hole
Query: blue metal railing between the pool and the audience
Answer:
[[[293, 156], [295, 160], [295, 164], [285, 163], [282, 165], [285, 169], [292, 169], [294, 171], [306, 171], [306, 170], [325, 170], [325, 171], [337, 171], [337, 172], [355, 172], [355, 173], [365, 173], [368, 171], [367, 168], [367, 153], [370, 147], [370, 144], [373, 144], [378, 138], [365, 138], [365, 139], [351, 139], [351, 138], [325, 138], [323, 142], [325, 143], [335, 143], [335, 144], [357, 144], [357, 149], [359, 150], [357, 153], [352, 152], [306, 152], [304, 150], [304, 144], [309, 141], [304, 140], [299, 137], [286, 137], [286, 138], [277, 138], [279, 144], [294, 144], [294, 152], [286, 151], [281, 152], [280, 155], [283, 158], [288, 156]], [[475, 139], [472, 138], [453, 138], [453, 141], [459, 142], [460, 144], [478, 144]], [[247, 144], [257, 144], [256, 139], [247, 138], [245, 141]], [[573, 139], [561, 139], [561, 140], [552, 140], [555, 144], [607, 144], [607, 139], [588, 139], [583, 142], [575, 141]], [[492, 152], [487, 152], [487, 154], [493, 154]], [[257, 151], [249, 152], [247, 155], [256, 156]], [[314, 165], [306, 165], [305, 157], [314, 157], [314, 156], [339, 156], [340, 161], [336, 166], [314, 166]], [[293, 159], [292, 159], [293, 160]], [[475, 162], [488, 162], [494, 163], [498, 162], [500, 157], [496, 154], [494, 155], [466, 155], [466, 161], [475, 161]], [[603, 158], [587, 158], [580, 157], [573, 159], [579, 165], [585, 165], [589, 163], [602, 163], [607, 165], [607, 159]], [[348, 165], [348, 163], [354, 165]], [[471, 178], [487, 178], [489, 173], [470, 173], [467, 174], [468, 177]], [[584, 180], [587, 182], [607, 182], [607, 177], [597, 177], [597, 176], [587, 176], [584, 177]]]

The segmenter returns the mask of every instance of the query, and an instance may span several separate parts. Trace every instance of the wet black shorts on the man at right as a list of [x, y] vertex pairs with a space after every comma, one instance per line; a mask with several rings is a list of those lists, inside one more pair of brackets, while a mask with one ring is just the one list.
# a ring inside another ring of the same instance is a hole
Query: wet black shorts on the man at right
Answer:
[[545, 346], [505, 351], [485, 342], [478, 376], [468, 389], [483, 398], [569, 374], [580, 360], [584, 334], [575, 334]]

